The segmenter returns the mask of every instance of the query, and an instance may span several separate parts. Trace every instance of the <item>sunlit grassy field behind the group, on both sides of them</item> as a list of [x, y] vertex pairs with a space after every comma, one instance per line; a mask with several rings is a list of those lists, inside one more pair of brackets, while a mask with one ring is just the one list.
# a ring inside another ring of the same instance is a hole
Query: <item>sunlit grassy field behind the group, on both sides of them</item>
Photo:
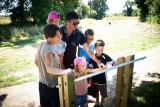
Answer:
[[[110, 25], [109, 22], [111, 22]], [[128, 56], [160, 45], [158, 27], [148, 23], [140, 23], [137, 17], [109, 17], [103, 20], [83, 19], [79, 28], [82, 31], [88, 28], [93, 29], [95, 40], [104, 40], [106, 43], [105, 53], [113, 58]], [[40, 39], [42, 38], [41, 35]], [[39, 39], [4, 42], [1, 45], [14, 47], [0, 47], [0, 88], [37, 79], [37, 74], [35, 74], [37, 68], [34, 65], [37, 40]], [[32, 44], [24, 45], [24, 43]]]

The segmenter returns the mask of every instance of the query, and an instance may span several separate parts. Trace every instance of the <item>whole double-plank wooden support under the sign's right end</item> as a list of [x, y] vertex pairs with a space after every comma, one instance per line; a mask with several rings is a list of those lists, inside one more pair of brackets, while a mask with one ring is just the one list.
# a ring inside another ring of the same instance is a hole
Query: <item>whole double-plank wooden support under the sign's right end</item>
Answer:
[[[131, 60], [134, 60], [134, 55], [122, 59], [122, 63]], [[128, 101], [131, 97], [133, 65], [134, 63], [120, 67], [117, 70], [116, 107], [128, 107]]]

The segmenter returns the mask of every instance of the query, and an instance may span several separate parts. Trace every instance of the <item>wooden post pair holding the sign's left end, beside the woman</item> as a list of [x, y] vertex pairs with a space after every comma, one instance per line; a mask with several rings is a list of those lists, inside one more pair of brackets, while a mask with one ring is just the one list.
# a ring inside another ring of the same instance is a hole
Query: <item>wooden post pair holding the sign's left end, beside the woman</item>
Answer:
[[[62, 79], [63, 78], [63, 79]], [[60, 107], [75, 107], [74, 77], [63, 76], [58, 78]]]

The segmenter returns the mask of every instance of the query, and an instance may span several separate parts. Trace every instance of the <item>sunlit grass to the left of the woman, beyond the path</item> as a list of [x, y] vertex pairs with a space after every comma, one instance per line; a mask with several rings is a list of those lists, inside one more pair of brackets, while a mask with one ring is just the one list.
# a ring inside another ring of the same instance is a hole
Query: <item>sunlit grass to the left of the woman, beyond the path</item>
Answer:
[[[0, 88], [36, 80], [37, 77], [30, 69], [34, 66], [36, 42], [41, 39], [43, 36], [1, 43], [1, 47], [10, 48], [2, 48], [0, 53]], [[24, 48], [28, 43], [33, 43], [32, 48]]]

